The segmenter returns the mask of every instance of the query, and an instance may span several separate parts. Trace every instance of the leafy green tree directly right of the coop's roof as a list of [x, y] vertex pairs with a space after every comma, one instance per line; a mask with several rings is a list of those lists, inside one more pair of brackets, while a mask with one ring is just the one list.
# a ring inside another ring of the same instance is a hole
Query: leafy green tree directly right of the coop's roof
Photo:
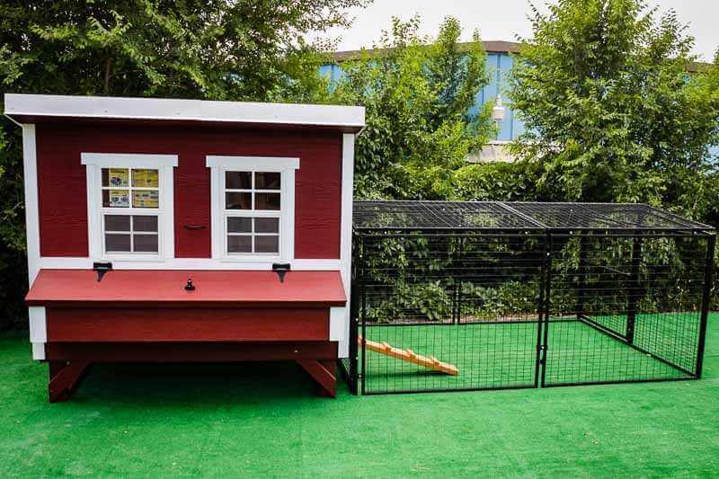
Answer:
[[447, 18], [435, 41], [419, 35], [419, 17], [392, 20], [375, 45], [343, 64], [333, 100], [367, 109], [355, 152], [358, 198], [444, 199], [466, 154], [493, 133], [488, 108], [468, 115], [487, 83], [478, 33], [458, 43], [459, 22]]

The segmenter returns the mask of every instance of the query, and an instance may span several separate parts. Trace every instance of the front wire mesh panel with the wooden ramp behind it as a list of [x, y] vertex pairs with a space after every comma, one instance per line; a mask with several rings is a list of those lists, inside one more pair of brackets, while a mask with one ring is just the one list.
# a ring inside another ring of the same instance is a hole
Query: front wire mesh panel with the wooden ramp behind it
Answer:
[[537, 384], [544, 235], [361, 235], [363, 393]]

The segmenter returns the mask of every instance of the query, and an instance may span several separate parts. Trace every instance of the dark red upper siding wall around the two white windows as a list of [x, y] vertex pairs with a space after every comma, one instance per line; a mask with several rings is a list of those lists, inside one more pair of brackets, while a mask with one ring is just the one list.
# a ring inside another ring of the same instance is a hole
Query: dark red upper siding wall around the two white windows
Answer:
[[[87, 256], [80, 153], [179, 155], [174, 171], [175, 256], [210, 256], [205, 155], [295, 156], [295, 257], [340, 257], [342, 134], [300, 129], [41, 123], [37, 125], [40, 255]], [[203, 225], [188, 230], [185, 225]]]

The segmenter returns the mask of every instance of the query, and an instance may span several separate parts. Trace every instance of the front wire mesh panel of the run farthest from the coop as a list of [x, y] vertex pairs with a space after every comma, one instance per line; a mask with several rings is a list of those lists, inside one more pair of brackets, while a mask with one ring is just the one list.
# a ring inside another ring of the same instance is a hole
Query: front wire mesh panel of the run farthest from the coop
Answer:
[[697, 377], [708, 238], [552, 235], [543, 386]]

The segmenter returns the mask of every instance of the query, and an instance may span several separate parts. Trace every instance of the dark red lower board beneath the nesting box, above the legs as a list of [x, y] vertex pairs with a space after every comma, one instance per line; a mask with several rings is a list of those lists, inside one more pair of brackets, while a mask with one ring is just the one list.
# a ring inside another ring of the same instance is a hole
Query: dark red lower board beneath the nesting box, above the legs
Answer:
[[337, 342], [49, 342], [49, 361], [230, 362], [337, 360]]

